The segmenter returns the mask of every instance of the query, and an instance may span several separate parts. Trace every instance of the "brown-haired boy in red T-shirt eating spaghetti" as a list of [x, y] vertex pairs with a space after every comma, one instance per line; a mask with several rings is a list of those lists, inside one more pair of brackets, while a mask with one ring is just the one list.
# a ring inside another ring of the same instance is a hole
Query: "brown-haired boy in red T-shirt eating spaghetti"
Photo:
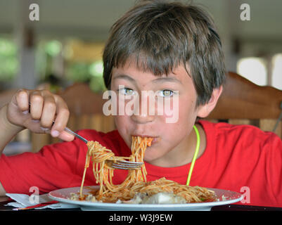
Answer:
[[[219, 35], [205, 11], [179, 3], [142, 1], [113, 25], [103, 62], [105, 85], [122, 99], [117, 109], [136, 99], [140, 107], [134, 113], [116, 115], [115, 131], [82, 130], [80, 135], [124, 156], [131, 153], [132, 135], [152, 137], [144, 156], [147, 179], [165, 176], [186, 184], [197, 143], [195, 124], [200, 149], [191, 186], [249, 190], [250, 205], [281, 207], [281, 139], [251, 126], [197, 120], [215, 107], [225, 75]], [[171, 117], [167, 105], [161, 115], [150, 113], [158, 111], [158, 104], [142, 110], [147, 105], [139, 98], [142, 91], [153, 91], [158, 101], [178, 101], [173, 111], [177, 120], [167, 122]], [[39, 153], [1, 155], [0, 195], [29, 193], [31, 186], [46, 193], [80, 185], [87, 149], [63, 131], [69, 112], [62, 98], [48, 91], [20, 90], [0, 115], [1, 149], [25, 128], [39, 133], [50, 129], [52, 136], [65, 141], [45, 146]], [[85, 186], [96, 184], [91, 171], [87, 170]], [[115, 170], [114, 184], [122, 183], [126, 175]]]

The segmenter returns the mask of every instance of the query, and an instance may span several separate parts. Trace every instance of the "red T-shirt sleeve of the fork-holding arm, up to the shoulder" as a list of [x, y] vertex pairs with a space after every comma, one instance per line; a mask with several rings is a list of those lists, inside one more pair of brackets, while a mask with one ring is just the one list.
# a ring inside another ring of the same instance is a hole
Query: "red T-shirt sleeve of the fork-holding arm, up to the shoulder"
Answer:
[[[127, 155], [130, 151], [117, 131], [103, 133], [93, 129], [83, 129], [78, 133], [89, 141], [98, 141], [113, 150], [116, 155]], [[119, 150], [124, 152], [120, 153]], [[38, 153], [1, 155], [1, 184], [7, 193], [27, 194], [33, 186], [39, 188], [39, 193], [80, 186], [86, 152], [86, 144], [75, 139], [44, 146]], [[91, 165], [86, 171], [84, 185], [96, 185]]]

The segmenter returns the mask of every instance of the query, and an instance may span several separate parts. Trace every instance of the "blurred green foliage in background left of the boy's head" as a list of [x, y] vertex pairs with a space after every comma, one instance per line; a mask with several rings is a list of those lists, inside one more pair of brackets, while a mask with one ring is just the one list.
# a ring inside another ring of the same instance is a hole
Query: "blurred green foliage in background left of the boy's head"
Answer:
[[[39, 41], [35, 50], [35, 71], [39, 80], [44, 81], [53, 73], [53, 58], [63, 51], [58, 40]], [[12, 81], [19, 70], [18, 46], [11, 39], [0, 37], [0, 82]], [[65, 77], [70, 82], [87, 82], [93, 91], [105, 90], [103, 83], [103, 62], [69, 62]]]

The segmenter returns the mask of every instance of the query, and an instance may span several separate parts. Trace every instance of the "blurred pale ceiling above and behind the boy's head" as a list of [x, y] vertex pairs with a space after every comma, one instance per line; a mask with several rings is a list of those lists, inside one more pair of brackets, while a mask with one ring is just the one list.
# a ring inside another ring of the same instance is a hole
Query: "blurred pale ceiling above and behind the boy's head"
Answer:
[[[0, 0], [0, 33], [13, 32], [27, 20], [29, 5], [38, 3], [40, 20], [32, 22], [38, 34], [105, 39], [111, 25], [136, 0]], [[213, 15], [223, 36], [282, 41], [281, 0], [194, 0]], [[250, 21], [240, 20], [240, 5], [250, 5]], [[22, 4], [22, 6], [21, 6]], [[20, 17], [20, 7], [25, 15]]]

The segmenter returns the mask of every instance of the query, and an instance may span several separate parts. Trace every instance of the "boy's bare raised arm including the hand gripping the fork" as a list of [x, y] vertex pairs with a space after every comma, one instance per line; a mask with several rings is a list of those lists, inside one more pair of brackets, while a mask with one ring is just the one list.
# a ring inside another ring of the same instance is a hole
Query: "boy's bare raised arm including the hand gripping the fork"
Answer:
[[[68, 105], [60, 96], [44, 90], [19, 90], [7, 105], [0, 108], [0, 158], [8, 142], [26, 128], [35, 133], [52, 133], [53, 130], [56, 134], [52, 136], [72, 141], [74, 136], [64, 131], [68, 117]], [[0, 195], [5, 195], [2, 184]]]

